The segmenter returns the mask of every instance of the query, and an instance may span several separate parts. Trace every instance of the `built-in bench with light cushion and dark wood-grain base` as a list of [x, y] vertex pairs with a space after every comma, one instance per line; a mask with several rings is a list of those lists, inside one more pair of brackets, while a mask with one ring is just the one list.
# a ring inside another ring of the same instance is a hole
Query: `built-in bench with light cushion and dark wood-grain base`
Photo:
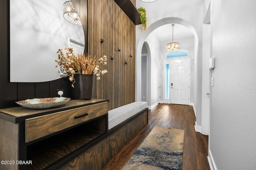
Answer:
[[[102, 125], [105, 126], [104, 123]], [[148, 125], [146, 102], [133, 102], [108, 111], [106, 133], [92, 142], [93, 147], [81, 153], [72, 164], [90, 170], [102, 169], [146, 125]], [[78, 163], [80, 160], [82, 164]]]

